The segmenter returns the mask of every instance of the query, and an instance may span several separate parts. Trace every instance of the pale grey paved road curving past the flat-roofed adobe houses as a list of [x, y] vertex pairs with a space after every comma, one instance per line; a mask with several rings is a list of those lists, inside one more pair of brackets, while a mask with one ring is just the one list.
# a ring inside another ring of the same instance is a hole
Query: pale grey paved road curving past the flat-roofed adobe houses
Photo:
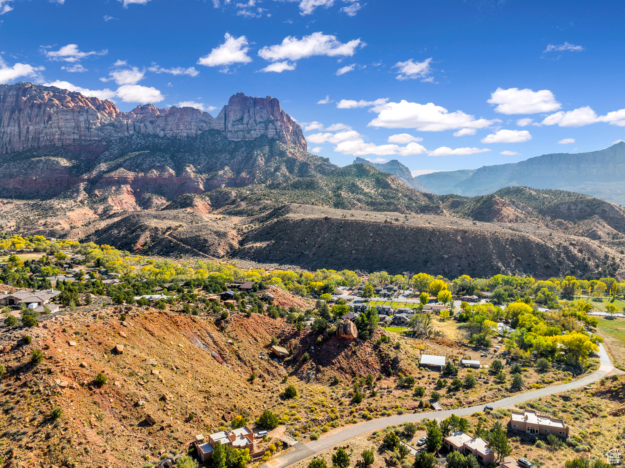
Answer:
[[[549, 396], [554, 393], [583, 387], [590, 384], [591, 382], [601, 379], [602, 377], [609, 374], [612, 369], [614, 369], [614, 367], [612, 367], [612, 362], [610, 361], [609, 356], [607, 356], [606, 349], [603, 347], [602, 344], [599, 344], [599, 364], [601, 364], [599, 366], [599, 369], [597, 369], [597, 371], [595, 371], [593, 374], [582, 377], [581, 379], [578, 379], [576, 381], [558, 385], [555, 387], [546, 387], [531, 392], [520, 393], [508, 398], [504, 398], [502, 400], [489, 402], [488, 404], [495, 409], [511, 407], [521, 402], [528, 401], [537, 397]], [[389, 416], [379, 419], [372, 419], [371, 421], [361, 422], [360, 424], [356, 424], [355, 426], [349, 426], [342, 431], [330, 434], [327, 437], [322, 437], [317, 441], [311, 441], [307, 444], [295, 444], [293, 446], [293, 451], [284, 454], [284, 456], [282, 457], [277, 457], [273, 460], [270, 460], [269, 462], [263, 464], [260, 468], [284, 468], [306, 457], [326, 451], [330, 447], [337, 446], [342, 442], [351, 439], [352, 437], [360, 436], [361, 434], [365, 434], [366, 432], [376, 431], [386, 426], [401, 424], [402, 422], [421, 421], [421, 419], [423, 419], [424, 417], [445, 419], [451, 416], [451, 414], [455, 414], [456, 416], [468, 416], [476, 411], [482, 411], [482, 409], [484, 409], [484, 404], [485, 402], [480, 404], [479, 406], [447, 409], [444, 411], [431, 411], [416, 414], [402, 414], [401, 416]]]

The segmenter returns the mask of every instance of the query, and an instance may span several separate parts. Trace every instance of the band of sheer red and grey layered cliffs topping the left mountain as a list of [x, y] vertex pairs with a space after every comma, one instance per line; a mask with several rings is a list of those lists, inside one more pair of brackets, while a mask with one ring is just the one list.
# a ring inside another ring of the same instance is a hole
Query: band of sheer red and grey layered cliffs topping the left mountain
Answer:
[[45, 147], [104, 151], [112, 141], [133, 136], [196, 137], [209, 129], [232, 141], [259, 136], [306, 151], [302, 129], [271, 96], [230, 97], [217, 117], [193, 107], [158, 109], [152, 104], [121, 112], [110, 101], [29, 82], [0, 86], [0, 152]]

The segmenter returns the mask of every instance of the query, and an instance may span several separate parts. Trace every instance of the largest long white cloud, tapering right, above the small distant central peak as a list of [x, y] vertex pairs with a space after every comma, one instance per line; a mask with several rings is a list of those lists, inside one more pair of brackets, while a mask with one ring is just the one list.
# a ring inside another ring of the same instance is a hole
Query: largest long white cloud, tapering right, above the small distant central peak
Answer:
[[378, 115], [367, 126], [384, 128], [414, 128], [421, 132], [441, 132], [453, 129], [482, 129], [501, 122], [499, 119], [476, 119], [462, 111], [449, 112], [432, 102], [419, 104], [402, 99], [388, 102], [371, 111]]

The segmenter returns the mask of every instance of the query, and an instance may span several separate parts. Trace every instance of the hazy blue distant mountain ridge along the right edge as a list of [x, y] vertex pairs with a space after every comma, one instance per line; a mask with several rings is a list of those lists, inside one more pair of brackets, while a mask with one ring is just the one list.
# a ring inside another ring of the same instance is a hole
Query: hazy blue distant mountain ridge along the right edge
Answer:
[[579, 192], [625, 204], [625, 142], [599, 151], [555, 153], [475, 170], [432, 172], [414, 177], [436, 194], [478, 196], [525, 186]]

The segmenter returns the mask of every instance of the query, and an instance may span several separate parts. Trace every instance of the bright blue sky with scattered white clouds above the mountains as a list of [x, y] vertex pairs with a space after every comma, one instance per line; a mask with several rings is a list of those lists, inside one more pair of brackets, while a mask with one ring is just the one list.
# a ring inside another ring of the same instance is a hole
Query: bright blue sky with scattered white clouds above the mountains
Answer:
[[[614, 1], [0, 0], [0, 82], [190, 105], [277, 97], [344, 166], [472, 169], [625, 140]], [[320, 103], [321, 102], [321, 103]], [[324, 103], [325, 102], [325, 103]]]

